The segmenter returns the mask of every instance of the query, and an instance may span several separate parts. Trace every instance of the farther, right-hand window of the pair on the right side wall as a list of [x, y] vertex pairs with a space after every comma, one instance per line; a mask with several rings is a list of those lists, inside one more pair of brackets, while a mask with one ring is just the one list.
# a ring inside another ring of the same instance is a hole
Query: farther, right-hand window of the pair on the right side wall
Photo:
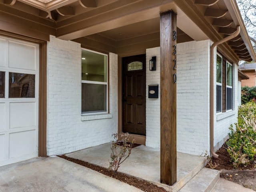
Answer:
[[227, 62], [226, 66], [226, 110], [232, 110], [233, 103], [233, 66]]

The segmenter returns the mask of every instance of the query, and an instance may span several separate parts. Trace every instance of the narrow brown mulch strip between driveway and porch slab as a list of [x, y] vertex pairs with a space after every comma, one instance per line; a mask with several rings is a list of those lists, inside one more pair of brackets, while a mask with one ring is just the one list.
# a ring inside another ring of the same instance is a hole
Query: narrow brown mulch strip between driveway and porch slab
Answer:
[[84, 161], [79, 160], [79, 159], [71, 158], [71, 157], [68, 157], [68, 156], [65, 156], [65, 155], [60, 155], [59, 157], [64, 158], [66, 160], [69, 160], [71, 162], [74, 162], [76, 164], [85, 166], [85, 167], [90, 168], [94, 171], [100, 172], [100, 173], [102, 173], [106, 176], [109, 176], [109, 177], [115, 178], [117, 180], [120, 180], [124, 183], [132, 185], [136, 188], [139, 188], [140, 190], [142, 190], [144, 192], [166, 192], [166, 190], [162, 187], [158, 187], [155, 184], [152, 184], [152, 183], [147, 182], [145, 180], [138, 179], [136, 177], [128, 176], [124, 173], [116, 172], [114, 174], [113, 171], [108, 170], [107, 168], [104, 168], [102, 166], [94, 165], [94, 164], [84, 162]]

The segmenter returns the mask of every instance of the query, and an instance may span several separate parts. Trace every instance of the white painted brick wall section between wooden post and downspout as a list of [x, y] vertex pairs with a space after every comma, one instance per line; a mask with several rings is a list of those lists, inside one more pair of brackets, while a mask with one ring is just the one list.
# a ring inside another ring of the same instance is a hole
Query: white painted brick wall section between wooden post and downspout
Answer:
[[177, 151], [209, 151], [210, 41], [177, 45]]

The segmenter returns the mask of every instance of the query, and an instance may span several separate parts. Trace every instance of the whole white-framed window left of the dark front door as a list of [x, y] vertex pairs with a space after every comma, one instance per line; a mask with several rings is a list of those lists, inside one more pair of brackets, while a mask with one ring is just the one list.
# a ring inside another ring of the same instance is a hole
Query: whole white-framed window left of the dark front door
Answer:
[[82, 49], [82, 113], [108, 111], [108, 55]]

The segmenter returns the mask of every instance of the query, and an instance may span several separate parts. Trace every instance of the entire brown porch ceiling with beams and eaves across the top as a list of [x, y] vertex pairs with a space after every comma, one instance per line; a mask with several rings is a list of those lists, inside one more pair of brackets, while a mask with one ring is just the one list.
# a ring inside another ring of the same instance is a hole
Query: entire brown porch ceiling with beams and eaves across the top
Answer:
[[178, 14], [178, 42], [216, 42], [239, 25], [240, 35], [220, 51], [234, 62], [256, 60], [235, 0], [0, 0], [0, 25], [121, 54], [160, 46], [159, 13], [170, 9]]

